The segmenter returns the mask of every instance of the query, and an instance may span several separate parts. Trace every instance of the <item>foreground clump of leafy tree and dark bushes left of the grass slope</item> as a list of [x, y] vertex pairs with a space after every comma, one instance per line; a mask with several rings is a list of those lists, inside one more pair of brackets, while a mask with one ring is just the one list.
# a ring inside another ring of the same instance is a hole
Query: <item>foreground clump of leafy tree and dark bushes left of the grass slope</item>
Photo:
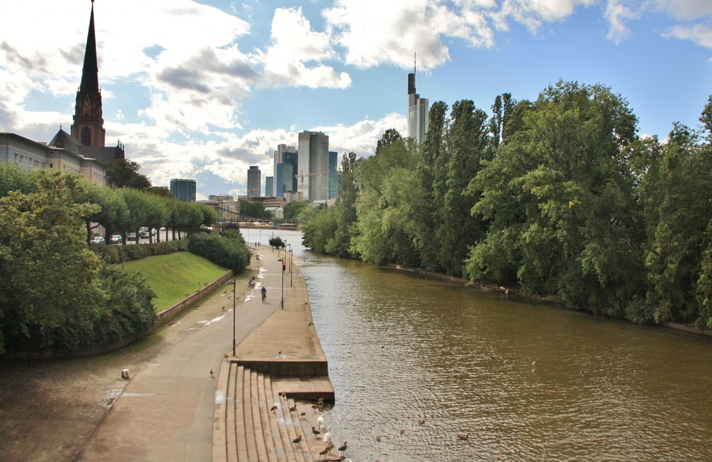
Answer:
[[87, 246], [85, 221], [101, 211], [91, 189], [77, 174], [0, 164], [0, 355], [81, 350], [153, 326], [145, 280]]

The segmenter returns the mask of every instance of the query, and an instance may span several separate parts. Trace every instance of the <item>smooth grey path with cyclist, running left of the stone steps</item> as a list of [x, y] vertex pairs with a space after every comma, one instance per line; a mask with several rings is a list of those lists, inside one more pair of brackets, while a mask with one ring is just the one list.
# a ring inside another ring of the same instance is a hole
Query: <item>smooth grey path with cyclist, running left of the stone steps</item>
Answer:
[[[246, 276], [237, 285], [236, 339], [239, 342], [280, 308], [281, 263], [271, 249], [258, 248], [253, 260], [258, 285]], [[268, 289], [267, 303], [258, 291]], [[90, 436], [75, 461], [212, 460], [212, 430], [217, 387], [215, 374], [232, 350], [232, 285], [226, 285], [172, 329], [180, 331], [157, 355], [130, 371], [133, 377]], [[224, 308], [224, 310], [223, 310]]]

